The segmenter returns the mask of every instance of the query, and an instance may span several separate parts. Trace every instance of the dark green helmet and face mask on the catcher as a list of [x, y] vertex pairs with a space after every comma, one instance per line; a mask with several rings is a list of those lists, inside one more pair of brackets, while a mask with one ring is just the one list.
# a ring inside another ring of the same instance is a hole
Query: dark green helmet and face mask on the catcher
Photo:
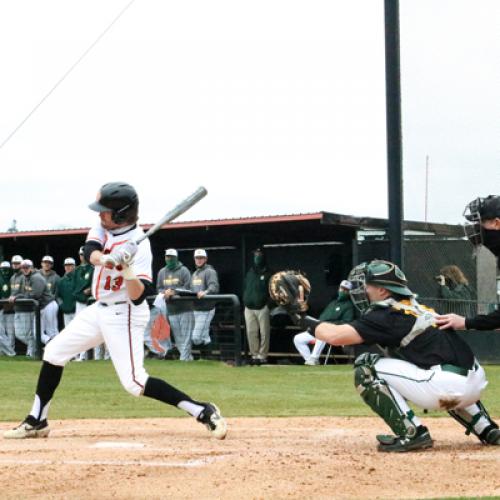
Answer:
[[348, 279], [353, 284], [351, 300], [362, 313], [370, 307], [366, 285], [376, 285], [397, 295], [413, 297], [413, 292], [408, 288], [408, 280], [403, 271], [396, 264], [387, 260], [377, 259], [363, 262], [351, 270]]

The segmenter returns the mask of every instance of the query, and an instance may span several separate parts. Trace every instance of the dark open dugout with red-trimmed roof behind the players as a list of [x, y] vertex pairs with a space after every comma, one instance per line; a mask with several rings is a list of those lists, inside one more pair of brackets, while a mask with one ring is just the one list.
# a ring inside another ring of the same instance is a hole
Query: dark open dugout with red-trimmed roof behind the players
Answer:
[[[177, 248], [180, 260], [193, 269], [193, 251], [202, 247], [219, 273], [221, 293], [241, 298], [251, 251], [263, 246], [272, 270], [293, 268], [308, 275], [313, 288], [311, 312], [318, 314], [335, 296], [338, 284], [354, 264], [388, 258], [387, 227], [386, 219], [331, 212], [177, 222], [151, 238], [154, 277], [163, 266], [166, 248]], [[495, 261], [488, 251], [472, 257], [462, 226], [405, 221], [403, 228], [404, 270], [412, 290], [421, 297], [435, 297], [433, 277], [442, 266], [456, 264], [468, 277], [479, 301], [496, 302]], [[54, 268], [61, 274], [65, 257], [77, 259], [87, 231], [76, 228], [0, 233], [0, 259], [20, 254], [38, 266], [42, 256], [48, 254], [54, 257]], [[293, 352], [291, 335], [282, 326], [279, 322], [275, 325], [271, 349]]]

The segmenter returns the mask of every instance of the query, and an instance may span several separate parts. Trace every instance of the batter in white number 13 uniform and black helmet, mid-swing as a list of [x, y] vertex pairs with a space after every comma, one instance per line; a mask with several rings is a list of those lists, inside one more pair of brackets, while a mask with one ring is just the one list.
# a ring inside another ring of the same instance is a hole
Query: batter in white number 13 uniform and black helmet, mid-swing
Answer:
[[224, 439], [227, 426], [212, 403], [191, 399], [161, 379], [150, 377], [143, 365], [143, 334], [149, 320], [146, 296], [154, 294], [152, 254], [137, 223], [139, 199], [129, 184], [112, 182], [89, 205], [100, 224], [91, 229], [84, 252], [95, 266], [92, 293], [96, 302], [82, 310], [45, 348], [33, 407], [7, 439], [47, 437], [47, 415], [63, 368], [76, 354], [106, 343], [123, 387], [134, 396], [147, 396], [176, 406], [204, 424], [213, 437]]

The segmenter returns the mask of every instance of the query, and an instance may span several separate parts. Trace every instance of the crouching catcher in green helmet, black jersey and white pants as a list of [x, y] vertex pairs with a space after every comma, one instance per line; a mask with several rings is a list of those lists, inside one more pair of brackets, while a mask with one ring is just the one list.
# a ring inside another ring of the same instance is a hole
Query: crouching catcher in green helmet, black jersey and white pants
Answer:
[[394, 432], [378, 435], [378, 450], [406, 452], [431, 448], [433, 440], [407, 401], [420, 408], [445, 410], [486, 445], [500, 445], [498, 425], [479, 401], [487, 385], [483, 368], [469, 346], [437, 314], [419, 304], [401, 269], [374, 260], [349, 274], [351, 299], [362, 316], [344, 325], [306, 315], [311, 286], [295, 271], [275, 274], [271, 297], [317, 339], [332, 345], [378, 344], [386, 356], [363, 353], [354, 362], [354, 384], [365, 403]]

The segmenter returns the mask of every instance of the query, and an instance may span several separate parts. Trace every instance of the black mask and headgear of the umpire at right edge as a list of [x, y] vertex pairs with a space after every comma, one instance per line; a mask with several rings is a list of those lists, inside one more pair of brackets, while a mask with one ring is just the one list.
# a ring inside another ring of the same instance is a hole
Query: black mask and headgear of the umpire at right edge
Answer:
[[475, 249], [484, 245], [497, 257], [500, 255], [500, 231], [485, 229], [482, 222], [500, 217], [500, 196], [476, 198], [464, 209], [466, 223], [465, 236], [474, 245]]

